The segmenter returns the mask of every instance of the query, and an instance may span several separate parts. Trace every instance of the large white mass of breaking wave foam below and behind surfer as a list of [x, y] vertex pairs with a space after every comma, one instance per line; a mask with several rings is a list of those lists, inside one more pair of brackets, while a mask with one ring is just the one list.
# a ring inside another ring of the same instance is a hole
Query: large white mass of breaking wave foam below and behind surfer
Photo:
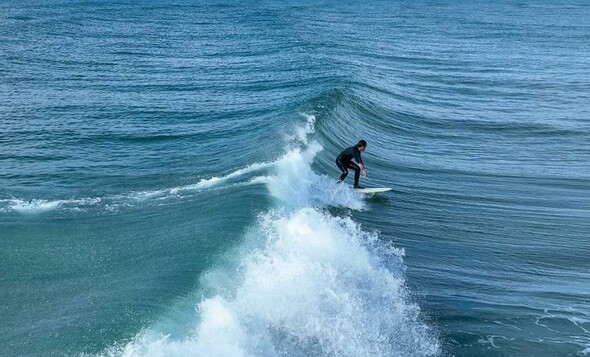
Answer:
[[275, 207], [250, 227], [234, 259], [203, 275], [203, 297], [195, 302], [189, 331], [154, 326], [107, 355], [440, 353], [408, 297], [403, 250], [351, 217], [326, 210], [329, 205], [362, 208], [362, 198], [314, 173], [311, 163], [321, 146], [302, 135], [298, 140], [301, 146], [279, 158], [268, 176], [253, 179], [266, 183]]

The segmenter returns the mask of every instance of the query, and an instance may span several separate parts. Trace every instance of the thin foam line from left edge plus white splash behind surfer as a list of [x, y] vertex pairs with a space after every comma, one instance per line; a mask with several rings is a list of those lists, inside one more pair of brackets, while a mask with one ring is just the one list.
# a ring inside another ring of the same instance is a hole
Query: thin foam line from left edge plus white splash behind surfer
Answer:
[[[47, 200], [42, 198], [21, 199], [10, 198], [0, 199], [0, 213], [16, 212], [23, 214], [38, 214], [53, 210], [65, 211], [87, 211], [90, 209], [105, 209], [108, 211], [117, 211], [121, 208], [141, 206], [151, 201], [162, 201], [167, 199], [178, 199], [191, 196], [194, 192], [200, 192], [208, 189], [220, 189], [235, 185], [248, 184], [269, 184], [271, 194], [283, 201], [283, 204], [289, 202], [305, 204], [320, 204], [333, 206], [350, 206], [351, 208], [360, 209], [362, 201], [350, 190], [345, 187], [334, 185], [332, 179], [325, 176], [319, 176], [311, 171], [309, 163], [313, 161], [315, 155], [322, 150], [316, 142], [308, 145], [308, 137], [314, 133], [315, 116], [302, 114], [306, 121], [294, 128], [294, 135], [286, 136], [286, 141], [290, 145], [297, 147], [303, 145], [305, 150], [294, 149], [288, 151], [283, 157], [272, 162], [255, 162], [248, 166], [239, 168], [226, 175], [202, 178], [196, 183], [184, 186], [162, 188], [158, 190], [135, 191], [112, 196], [103, 197], [82, 197], [58, 200]], [[240, 181], [244, 176], [267, 171], [281, 171], [283, 176], [289, 174], [290, 180], [277, 179], [276, 175], [258, 176], [251, 178], [249, 181]], [[237, 181], [237, 182], [236, 182]], [[306, 194], [308, 188], [315, 188], [313, 195]]]

